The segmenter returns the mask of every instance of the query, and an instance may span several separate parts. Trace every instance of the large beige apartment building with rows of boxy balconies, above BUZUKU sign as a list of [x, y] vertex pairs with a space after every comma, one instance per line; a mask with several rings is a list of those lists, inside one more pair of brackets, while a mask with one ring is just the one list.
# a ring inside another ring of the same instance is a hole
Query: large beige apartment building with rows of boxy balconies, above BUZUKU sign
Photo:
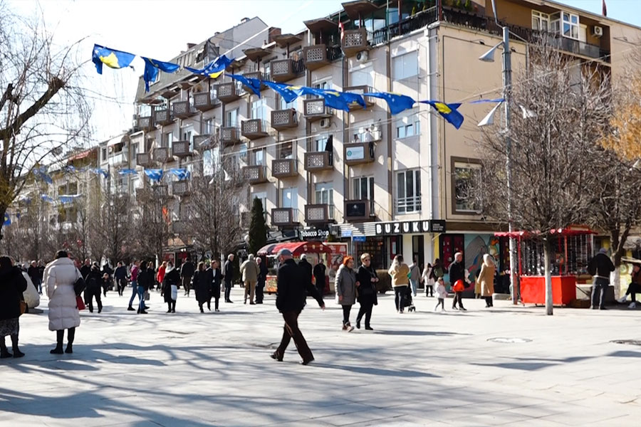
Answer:
[[[188, 45], [174, 62], [199, 68], [226, 53], [236, 58], [228, 71], [291, 85], [445, 102], [500, 96], [501, 61], [478, 60], [501, 40], [491, 1], [452, 4], [348, 1], [294, 34], [246, 19]], [[526, 63], [526, 41], [547, 31], [577, 63], [621, 78], [625, 52], [641, 36], [640, 28], [553, 1], [496, 0], [496, 9], [514, 34], [515, 70]], [[456, 251], [469, 268], [486, 252], [501, 269], [508, 265], [507, 242], [494, 238], [496, 224], [466, 196], [481, 158], [476, 122], [490, 107], [463, 105], [466, 122], [456, 130], [422, 104], [392, 116], [370, 97], [367, 108], [343, 112], [316, 97], [288, 103], [267, 88], [259, 97], [229, 77], [160, 74], [150, 93], [142, 79], [137, 92], [137, 167], [207, 173], [208, 165], [234, 158], [249, 181], [248, 200], [261, 199], [271, 228], [306, 230], [301, 238], [331, 233], [353, 253], [372, 253], [377, 267], [399, 253], [448, 265]], [[184, 195], [168, 191], [179, 216]], [[241, 211], [246, 206], [239, 203]]]

